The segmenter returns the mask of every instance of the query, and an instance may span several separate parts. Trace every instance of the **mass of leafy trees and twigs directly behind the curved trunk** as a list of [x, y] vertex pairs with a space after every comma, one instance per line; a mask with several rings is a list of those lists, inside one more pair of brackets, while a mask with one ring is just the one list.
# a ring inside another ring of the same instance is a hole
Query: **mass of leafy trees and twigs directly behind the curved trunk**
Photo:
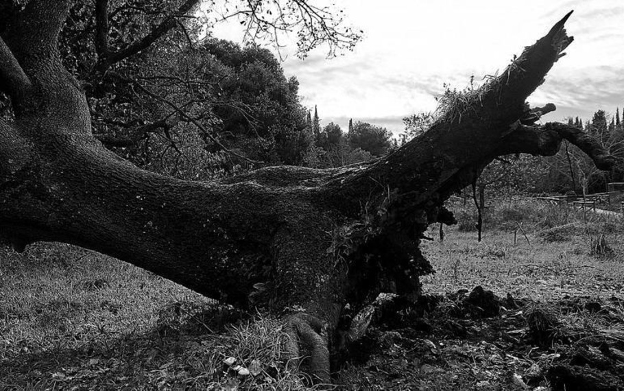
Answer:
[[[111, 1], [108, 51], [145, 37], [182, 4]], [[312, 140], [298, 81], [285, 78], [270, 51], [199, 42], [205, 19], [188, 19], [99, 73], [106, 56], [94, 42], [95, 13], [91, 2], [75, 4], [60, 47], [67, 67], [85, 81], [95, 134], [112, 150], [141, 167], [189, 179], [234, 174], [251, 167], [250, 160], [302, 163]]]

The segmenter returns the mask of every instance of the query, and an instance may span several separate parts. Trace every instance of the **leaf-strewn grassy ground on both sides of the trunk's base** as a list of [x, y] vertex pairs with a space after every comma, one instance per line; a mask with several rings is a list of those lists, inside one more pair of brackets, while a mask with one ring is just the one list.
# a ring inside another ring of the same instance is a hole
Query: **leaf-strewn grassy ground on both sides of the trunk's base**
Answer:
[[[424, 277], [424, 292], [482, 285], [503, 298], [554, 307], [577, 298], [603, 305], [624, 299], [619, 218], [503, 200], [486, 213], [477, 243], [474, 212], [459, 201], [451, 208], [459, 224], [445, 228], [443, 243], [432, 226], [436, 239], [422, 244], [437, 270]], [[444, 303], [425, 314], [429, 329], [407, 322], [372, 330], [367, 348], [356, 348], [337, 374], [339, 388], [529, 389], [521, 383], [526, 371], [540, 355], [557, 354], [554, 345], [503, 354], [511, 347], [496, 338], [505, 328], [526, 328], [517, 310], [483, 322], [453, 320], [468, 330], [457, 337], [444, 318], [453, 301]], [[610, 308], [610, 320], [576, 311], [562, 324], [620, 335], [613, 320], [619, 313]], [[0, 248], [0, 390], [302, 390], [304, 379], [280, 362], [284, 338], [276, 320], [250, 319], [100, 254], [62, 244], [37, 244], [24, 254]], [[251, 375], [237, 375], [223, 364], [228, 357]]]

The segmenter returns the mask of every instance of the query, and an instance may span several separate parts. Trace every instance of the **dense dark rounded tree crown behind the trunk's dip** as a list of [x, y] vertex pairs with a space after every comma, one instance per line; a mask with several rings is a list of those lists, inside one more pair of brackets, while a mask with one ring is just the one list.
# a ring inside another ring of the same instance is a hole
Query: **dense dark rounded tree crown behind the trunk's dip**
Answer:
[[299, 103], [296, 78], [285, 78], [276, 58], [256, 46], [207, 40], [200, 48], [206, 67], [217, 63], [217, 128], [227, 145], [255, 160], [297, 165], [311, 143], [306, 110]]

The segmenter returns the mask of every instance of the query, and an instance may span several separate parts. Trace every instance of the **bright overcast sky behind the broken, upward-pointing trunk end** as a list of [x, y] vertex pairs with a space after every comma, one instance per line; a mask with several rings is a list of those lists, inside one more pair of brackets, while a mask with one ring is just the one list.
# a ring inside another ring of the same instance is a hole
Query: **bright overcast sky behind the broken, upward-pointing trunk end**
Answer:
[[[315, 1], [315, 0], [311, 0]], [[403, 130], [407, 115], [435, 109], [443, 84], [459, 89], [470, 76], [503, 71], [514, 54], [533, 44], [567, 12], [574, 43], [529, 103], [552, 102], [546, 121], [590, 119], [624, 106], [623, 0], [341, 0], [353, 27], [364, 30], [355, 51], [305, 60], [287, 54], [283, 68], [300, 82], [302, 103], [318, 106], [322, 124], [347, 128], [350, 118]], [[216, 36], [235, 38], [219, 29]], [[294, 45], [292, 46], [294, 47]]]

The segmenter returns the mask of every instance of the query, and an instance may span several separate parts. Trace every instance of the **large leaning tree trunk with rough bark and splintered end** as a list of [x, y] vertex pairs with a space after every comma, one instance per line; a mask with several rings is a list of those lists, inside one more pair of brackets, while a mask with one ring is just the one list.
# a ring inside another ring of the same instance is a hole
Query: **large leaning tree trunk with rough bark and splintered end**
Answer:
[[3, 235], [18, 249], [34, 241], [91, 248], [226, 303], [280, 314], [291, 354], [311, 357], [320, 379], [343, 341], [346, 303], [357, 311], [379, 292], [416, 298], [419, 276], [431, 271], [418, 248], [424, 230], [453, 224], [444, 200], [496, 156], [553, 155], [566, 139], [601, 169], [615, 163], [579, 130], [519, 121], [572, 41], [568, 14], [498, 78], [447, 102], [428, 132], [376, 161], [266, 167], [209, 183], [152, 174], [91, 134], [84, 93], [56, 47], [70, 3], [29, 2], [0, 39], [0, 89], [15, 114], [0, 120]]

